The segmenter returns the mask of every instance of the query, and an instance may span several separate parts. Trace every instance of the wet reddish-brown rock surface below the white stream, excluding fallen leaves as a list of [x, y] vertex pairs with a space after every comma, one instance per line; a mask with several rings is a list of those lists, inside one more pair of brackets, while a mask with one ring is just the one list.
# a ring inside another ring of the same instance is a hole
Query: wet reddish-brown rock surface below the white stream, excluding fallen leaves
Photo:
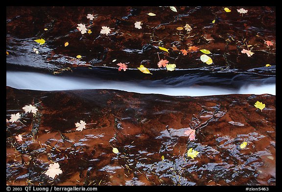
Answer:
[[[6, 127], [7, 185], [276, 185], [276, 96], [6, 93], [7, 119], [21, 114]], [[28, 104], [35, 115], [24, 113]], [[80, 120], [89, 125], [76, 131]], [[44, 174], [52, 162], [63, 171], [54, 179]]]

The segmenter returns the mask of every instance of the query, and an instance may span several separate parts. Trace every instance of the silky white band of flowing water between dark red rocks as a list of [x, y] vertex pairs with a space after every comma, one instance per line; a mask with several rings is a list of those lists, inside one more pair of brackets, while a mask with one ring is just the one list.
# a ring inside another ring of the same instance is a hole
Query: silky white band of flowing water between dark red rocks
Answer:
[[144, 86], [136, 81], [108, 81], [83, 77], [56, 76], [38, 72], [6, 72], [6, 85], [16, 89], [59, 91], [78, 89], [114, 89], [141, 94], [163, 94], [168, 96], [211, 96], [227, 94], [271, 94], [276, 95], [276, 84], [246, 84], [240, 89], [212, 86]]

